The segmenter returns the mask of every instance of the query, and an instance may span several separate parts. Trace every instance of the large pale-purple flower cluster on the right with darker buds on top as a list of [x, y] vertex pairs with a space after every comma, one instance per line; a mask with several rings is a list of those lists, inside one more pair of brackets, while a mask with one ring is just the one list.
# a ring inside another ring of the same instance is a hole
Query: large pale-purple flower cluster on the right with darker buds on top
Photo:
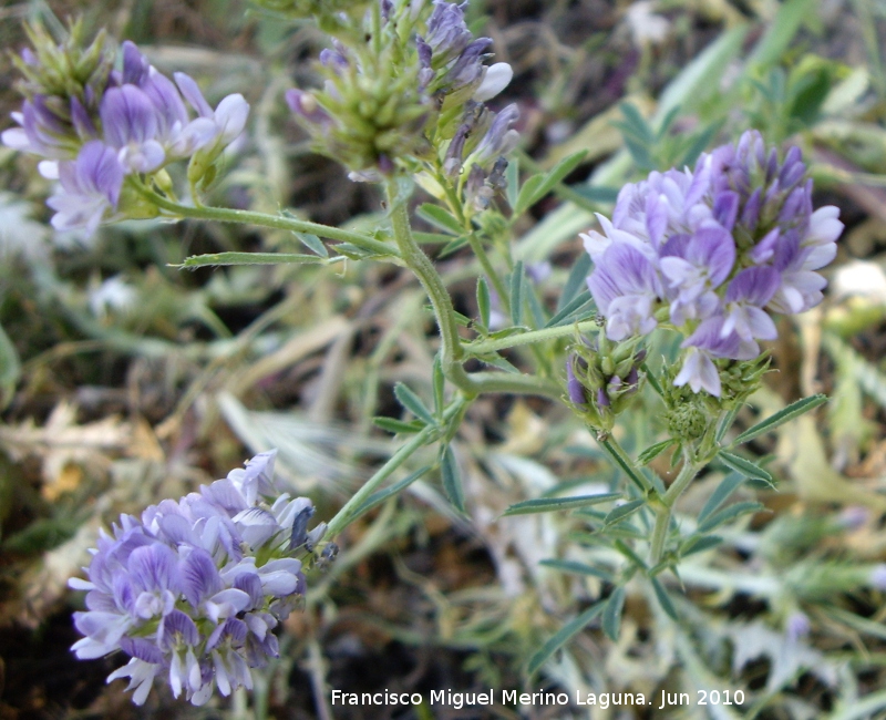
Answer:
[[836, 255], [839, 210], [813, 210], [800, 148], [780, 162], [756, 131], [703, 154], [694, 172], [651, 173], [618, 195], [604, 234], [583, 235], [588, 287], [611, 340], [660, 322], [686, 339], [676, 385], [719, 397], [714, 360], [752, 360], [777, 336], [772, 313], [822, 300], [816, 270]]

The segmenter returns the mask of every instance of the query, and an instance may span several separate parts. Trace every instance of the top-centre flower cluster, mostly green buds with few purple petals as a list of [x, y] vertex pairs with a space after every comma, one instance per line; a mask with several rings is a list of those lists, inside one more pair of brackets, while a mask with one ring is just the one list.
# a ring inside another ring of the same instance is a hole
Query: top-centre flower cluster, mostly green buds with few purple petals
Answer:
[[[352, 179], [379, 182], [398, 163], [414, 169], [416, 160], [427, 160], [429, 147], [435, 145], [446, 175], [454, 178], [470, 168], [467, 195], [478, 204], [503, 181], [494, 165], [517, 143], [513, 125], [519, 112], [512, 104], [496, 114], [485, 102], [514, 73], [507, 63], [484, 64], [492, 40], [473, 37], [465, 23], [466, 4], [434, 0], [422, 25], [408, 3], [395, 9], [382, 0], [390, 56], [380, 62], [336, 43], [320, 54], [326, 88], [287, 92], [290, 109], [318, 150], [351, 167]], [[404, 41], [405, 23], [413, 23], [414, 33]], [[383, 73], [391, 73], [390, 81]]]

